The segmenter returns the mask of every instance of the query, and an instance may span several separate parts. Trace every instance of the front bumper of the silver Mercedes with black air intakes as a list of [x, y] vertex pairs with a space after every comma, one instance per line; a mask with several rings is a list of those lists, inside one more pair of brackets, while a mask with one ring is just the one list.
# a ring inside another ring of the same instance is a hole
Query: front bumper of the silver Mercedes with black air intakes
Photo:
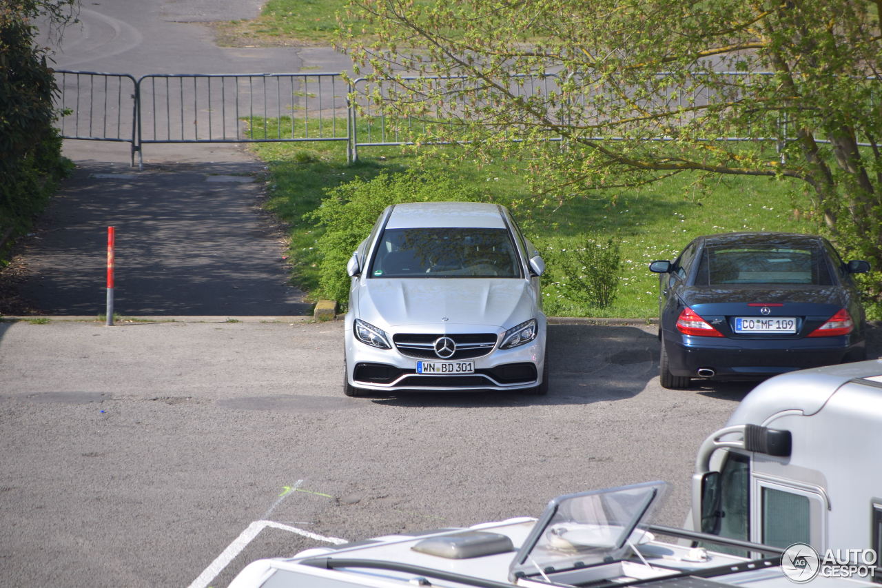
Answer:
[[[535, 388], [542, 383], [542, 369], [545, 361], [544, 319], [537, 319], [536, 338], [527, 344], [510, 350], [498, 348], [505, 329], [477, 328], [480, 332], [497, 333], [497, 346], [486, 355], [468, 358], [475, 362], [475, 373], [463, 375], [424, 375], [416, 373], [416, 362], [421, 358], [413, 354], [405, 355], [398, 348], [381, 350], [358, 341], [352, 333], [352, 322], [346, 326], [346, 377], [356, 388], [381, 392], [404, 390], [417, 391], [477, 391], [477, 390], [518, 390]], [[447, 331], [469, 332], [452, 325]], [[437, 328], [436, 333], [437, 333]], [[407, 327], [408, 332], [430, 333], [431, 327]], [[390, 338], [393, 337], [389, 333]], [[422, 358], [431, 360], [431, 358]], [[434, 358], [436, 361], [443, 361]]]

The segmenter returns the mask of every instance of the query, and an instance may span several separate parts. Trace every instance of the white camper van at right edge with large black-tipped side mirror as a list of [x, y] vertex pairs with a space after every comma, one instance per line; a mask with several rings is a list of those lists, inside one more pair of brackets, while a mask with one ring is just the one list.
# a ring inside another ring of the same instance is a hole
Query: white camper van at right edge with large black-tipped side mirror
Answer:
[[777, 547], [855, 550], [851, 559], [882, 554], [882, 360], [754, 388], [699, 449], [690, 525]]

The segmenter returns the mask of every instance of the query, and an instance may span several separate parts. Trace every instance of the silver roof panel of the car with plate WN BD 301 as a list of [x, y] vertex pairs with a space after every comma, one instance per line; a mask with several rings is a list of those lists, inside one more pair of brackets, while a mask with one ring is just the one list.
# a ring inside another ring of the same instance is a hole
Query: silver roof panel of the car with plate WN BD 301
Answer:
[[386, 229], [505, 229], [502, 207], [490, 202], [406, 202], [392, 207]]

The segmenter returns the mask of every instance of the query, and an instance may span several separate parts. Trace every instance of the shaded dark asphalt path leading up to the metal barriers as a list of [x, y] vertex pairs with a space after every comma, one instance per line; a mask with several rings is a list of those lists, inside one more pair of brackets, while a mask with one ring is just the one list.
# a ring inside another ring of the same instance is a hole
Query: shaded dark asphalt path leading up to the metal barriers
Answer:
[[34, 313], [105, 312], [108, 226], [117, 314], [310, 312], [288, 283], [284, 235], [259, 207], [258, 162], [80, 165], [21, 245], [19, 296]]

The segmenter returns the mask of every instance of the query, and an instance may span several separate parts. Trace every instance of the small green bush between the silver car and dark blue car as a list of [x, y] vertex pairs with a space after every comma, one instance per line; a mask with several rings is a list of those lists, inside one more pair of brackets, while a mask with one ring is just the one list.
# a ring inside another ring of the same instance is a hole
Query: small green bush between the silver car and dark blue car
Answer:
[[555, 313], [555, 305], [562, 302], [609, 308], [616, 301], [622, 267], [617, 239], [582, 238], [581, 242], [552, 238], [540, 247], [547, 266], [544, 285], [556, 292], [547, 312]]

